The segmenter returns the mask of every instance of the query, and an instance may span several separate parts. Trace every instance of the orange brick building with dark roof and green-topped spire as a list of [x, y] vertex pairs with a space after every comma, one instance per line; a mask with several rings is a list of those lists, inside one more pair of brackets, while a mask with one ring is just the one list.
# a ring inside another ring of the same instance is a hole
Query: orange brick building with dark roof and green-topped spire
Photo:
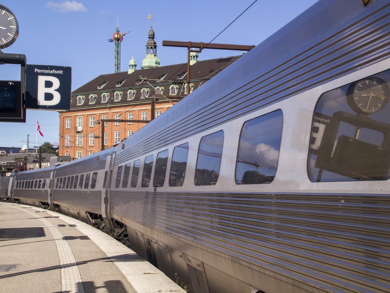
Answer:
[[[71, 94], [70, 111], [59, 113], [59, 156], [82, 158], [104, 147], [116, 145], [146, 123], [106, 122], [101, 137], [100, 119], [151, 119], [151, 101], [158, 97], [155, 117], [187, 96], [187, 63], [160, 66], [155, 32], [151, 26], [146, 56], [140, 70], [132, 57], [125, 72], [102, 74]], [[198, 61], [191, 56], [190, 92], [240, 56]]]

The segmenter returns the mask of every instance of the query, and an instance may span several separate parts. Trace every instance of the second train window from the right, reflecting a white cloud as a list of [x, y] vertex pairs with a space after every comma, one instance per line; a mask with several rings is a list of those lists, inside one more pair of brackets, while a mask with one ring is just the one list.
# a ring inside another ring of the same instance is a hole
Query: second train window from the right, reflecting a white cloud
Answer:
[[282, 110], [244, 123], [235, 166], [236, 184], [264, 184], [273, 181], [279, 161], [282, 128]]

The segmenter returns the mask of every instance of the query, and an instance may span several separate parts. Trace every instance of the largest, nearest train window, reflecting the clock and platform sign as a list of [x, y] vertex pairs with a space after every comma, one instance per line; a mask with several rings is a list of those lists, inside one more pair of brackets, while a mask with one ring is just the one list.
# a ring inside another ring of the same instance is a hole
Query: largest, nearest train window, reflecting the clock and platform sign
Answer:
[[387, 180], [390, 70], [323, 93], [308, 156], [312, 182]]

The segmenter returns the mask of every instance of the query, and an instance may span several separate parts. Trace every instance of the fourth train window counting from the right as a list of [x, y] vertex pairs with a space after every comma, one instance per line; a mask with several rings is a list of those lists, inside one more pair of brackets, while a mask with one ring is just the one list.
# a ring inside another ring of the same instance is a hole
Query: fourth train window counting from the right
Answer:
[[188, 143], [175, 146], [172, 154], [169, 186], [183, 186], [188, 159]]

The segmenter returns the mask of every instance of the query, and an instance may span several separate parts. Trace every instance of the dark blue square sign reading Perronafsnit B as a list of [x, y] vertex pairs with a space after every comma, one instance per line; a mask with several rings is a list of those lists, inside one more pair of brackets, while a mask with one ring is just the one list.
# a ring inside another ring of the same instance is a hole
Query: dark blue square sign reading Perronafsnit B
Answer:
[[26, 108], [69, 110], [72, 68], [66, 66], [26, 66]]

